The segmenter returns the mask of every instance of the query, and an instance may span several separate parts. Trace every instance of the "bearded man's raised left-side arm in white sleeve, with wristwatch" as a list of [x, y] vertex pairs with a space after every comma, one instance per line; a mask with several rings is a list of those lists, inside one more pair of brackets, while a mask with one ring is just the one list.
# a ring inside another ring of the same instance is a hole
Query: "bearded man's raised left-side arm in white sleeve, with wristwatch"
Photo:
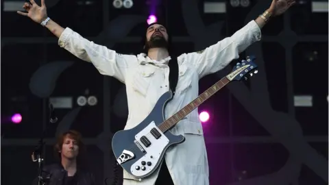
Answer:
[[41, 0], [41, 6], [37, 5], [34, 0], [30, 0], [30, 2], [23, 5], [27, 12], [18, 11], [17, 13], [28, 16], [32, 21], [47, 27], [51, 33], [59, 38], [60, 47], [81, 60], [92, 62], [102, 75], [109, 75], [125, 82], [127, 69], [137, 64], [134, 62], [136, 56], [120, 55], [116, 51], [83, 38], [69, 27], [64, 29], [47, 16], [45, 0]]

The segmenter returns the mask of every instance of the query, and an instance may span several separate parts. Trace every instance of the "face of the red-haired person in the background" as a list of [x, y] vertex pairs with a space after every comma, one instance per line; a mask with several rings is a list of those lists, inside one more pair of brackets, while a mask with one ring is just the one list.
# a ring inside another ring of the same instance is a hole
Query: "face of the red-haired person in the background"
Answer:
[[67, 158], [69, 160], [77, 158], [77, 154], [79, 154], [79, 146], [77, 145], [77, 141], [69, 136], [66, 136], [64, 138], [60, 153], [62, 158]]

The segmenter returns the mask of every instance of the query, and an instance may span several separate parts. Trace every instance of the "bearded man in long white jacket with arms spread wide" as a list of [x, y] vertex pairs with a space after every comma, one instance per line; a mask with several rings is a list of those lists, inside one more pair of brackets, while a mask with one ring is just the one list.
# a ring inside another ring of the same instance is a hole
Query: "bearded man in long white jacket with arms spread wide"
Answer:
[[[64, 29], [52, 21], [47, 16], [45, 0], [41, 0], [41, 6], [34, 0], [30, 1], [31, 3], [23, 5], [27, 12], [18, 12], [19, 14], [28, 16], [36, 23], [47, 27], [59, 38], [60, 47], [81, 60], [92, 62], [102, 75], [115, 77], [125, 84], [129, 110], [125, 130], [132, 129], [141, 123], [154, 108], [159, 97], [170, 89], [169, 69], [175, 70], [171, 66], [178, 65], [178, 82], [173, 89], [175, 95], [164, 110], [166, 118], [184, 108], [198, 96], [199, 79], [216, 73], [232, 60], [239, 58], [239, 53], [260, 40], [260, 29], [273, 16], [282, 14], [295, 3], [293, 0], [273, 0], [263, 14], [247, 23], [232, 36], [220, 40], [203, 51], [183, 53], [176, 57], [169, 53], [171, 52], [169, 34], [162, 23], [154, 23], [147, 27], [143, 36], [145, 37], [145, 53], [137, 56], [122, 55], [90, 42], [69, 27]], [[164, 179], [171, 178], [171, 184], [175, 185], [209, 184], [206, 145], [197, 109], [171, 128], [170, 132], [175, 135], [182, 134], [185, 137], [184, 143], [169, 148], [164, 154], [161, 168], [141, 182], [134, 181], [135, 178], [124, 171], [124, 185], [169, 184], [164, 182], [162, 174], [164, 174]]]

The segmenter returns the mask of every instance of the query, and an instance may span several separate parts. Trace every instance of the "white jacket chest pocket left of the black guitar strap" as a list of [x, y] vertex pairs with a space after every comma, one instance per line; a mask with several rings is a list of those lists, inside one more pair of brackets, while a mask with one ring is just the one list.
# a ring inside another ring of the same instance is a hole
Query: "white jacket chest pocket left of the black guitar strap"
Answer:
[[139, 69], [132, 80], [132, 88], [145, 97], [154, 72], [151, 68]]

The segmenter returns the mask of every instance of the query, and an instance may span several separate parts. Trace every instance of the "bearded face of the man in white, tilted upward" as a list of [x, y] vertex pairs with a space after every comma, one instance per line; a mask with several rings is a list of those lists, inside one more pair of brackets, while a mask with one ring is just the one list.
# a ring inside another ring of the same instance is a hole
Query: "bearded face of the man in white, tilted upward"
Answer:
[[146, 31], [146, 49], [150, 48], [168, 48], [167, 29], [158, 24], [151, 25]]

